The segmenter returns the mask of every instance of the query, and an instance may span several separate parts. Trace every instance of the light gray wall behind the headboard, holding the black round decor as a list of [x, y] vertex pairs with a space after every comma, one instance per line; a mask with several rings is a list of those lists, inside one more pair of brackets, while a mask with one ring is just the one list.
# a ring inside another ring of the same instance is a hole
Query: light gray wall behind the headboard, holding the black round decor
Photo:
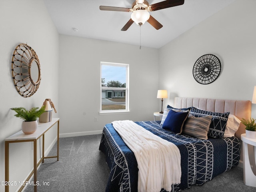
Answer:
[[[256, 1], [238, 0], [159, 50], [159, 86], [175, 96], [252, 100], [256, 85]], [[218, 56], [220, 76], [211, 84], [194, 80], [192, 69], [204, 54]], [[252, 104], [252, 117], [256, 117]]]

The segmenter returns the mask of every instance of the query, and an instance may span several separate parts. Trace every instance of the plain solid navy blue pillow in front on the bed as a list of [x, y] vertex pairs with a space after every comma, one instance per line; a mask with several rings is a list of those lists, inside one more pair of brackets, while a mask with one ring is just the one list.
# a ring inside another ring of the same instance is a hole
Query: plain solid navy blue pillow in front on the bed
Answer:
[[188, 118], [189, 111], [176, 112], [170, 110], [162, 126], [163, 129], [170, 130], [175, 134], [182, 132], [182, 127], [186, 119]]

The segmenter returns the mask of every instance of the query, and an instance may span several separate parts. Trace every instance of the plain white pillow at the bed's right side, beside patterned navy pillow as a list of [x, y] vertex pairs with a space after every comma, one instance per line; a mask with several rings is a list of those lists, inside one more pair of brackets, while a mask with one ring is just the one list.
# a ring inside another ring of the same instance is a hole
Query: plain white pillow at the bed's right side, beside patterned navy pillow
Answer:
[[225, 129], [223, 137], [234, 137], [236, 131], [238, 130], [238, 128], [240, 126], [240, 122], [241, 121], [236, 116], [230, 114], [228, 116], [228, 121], [226, 124], [226, 129]]

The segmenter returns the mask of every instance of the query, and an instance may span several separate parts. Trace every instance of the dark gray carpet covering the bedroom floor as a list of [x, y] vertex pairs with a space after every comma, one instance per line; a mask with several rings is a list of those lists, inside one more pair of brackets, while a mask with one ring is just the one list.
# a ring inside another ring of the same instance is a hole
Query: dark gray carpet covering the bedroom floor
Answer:
[[[98, 150], [101, 135], [60, 138], [59, 161], [46, 159], [38, 170], [38, 192], [104, 192], [109, 168], [105, 155]], [[56, 155], [56, 144], [48, 156]], [[48, 186], [42, 185], [48, 182]], [[24, 192], [33, 192], [27, 186]], [[243, 182], [240, 167], [215, 177], [202, 186], [192, 186], [184, 192], [256, 192]]]

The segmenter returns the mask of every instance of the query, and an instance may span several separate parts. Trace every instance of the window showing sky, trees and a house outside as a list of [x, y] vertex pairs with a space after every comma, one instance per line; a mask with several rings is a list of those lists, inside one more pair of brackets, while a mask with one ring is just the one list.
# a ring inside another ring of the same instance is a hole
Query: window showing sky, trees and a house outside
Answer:
[[100, 114], [129, 111], [129, 65], [100, 62]]

